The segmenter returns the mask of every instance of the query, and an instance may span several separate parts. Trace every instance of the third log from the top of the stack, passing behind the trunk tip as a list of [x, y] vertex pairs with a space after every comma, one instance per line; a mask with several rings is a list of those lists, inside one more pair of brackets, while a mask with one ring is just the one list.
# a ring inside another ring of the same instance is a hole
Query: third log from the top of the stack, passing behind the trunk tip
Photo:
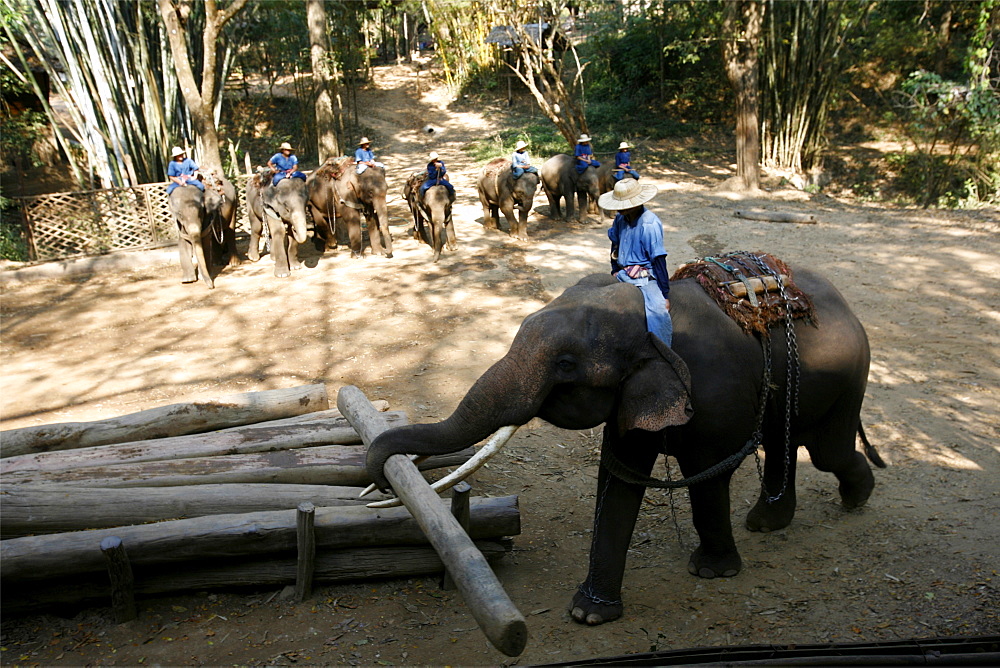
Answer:
[[[432, 457], [421, 470], [458, 466], [472, 453]], [[213, 483], [287, 483], [365, 486], [365, 446], [329, 445], [277, 452], [218, 457], [191, 457], [135, 464], [88, 466], [66, 471], [13, 471], [0, 478], [4, 485], [71, 484], [80, 487], [169, 487]]]

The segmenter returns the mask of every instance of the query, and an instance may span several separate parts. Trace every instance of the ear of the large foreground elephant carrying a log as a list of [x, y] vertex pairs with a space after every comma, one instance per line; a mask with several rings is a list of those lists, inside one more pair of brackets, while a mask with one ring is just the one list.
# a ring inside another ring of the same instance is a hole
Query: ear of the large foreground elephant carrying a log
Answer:
[[641, 358], [622, 382], [618, 430], [659, 431], [691, 419], [691, 374], [684, 360], [646, 333]]

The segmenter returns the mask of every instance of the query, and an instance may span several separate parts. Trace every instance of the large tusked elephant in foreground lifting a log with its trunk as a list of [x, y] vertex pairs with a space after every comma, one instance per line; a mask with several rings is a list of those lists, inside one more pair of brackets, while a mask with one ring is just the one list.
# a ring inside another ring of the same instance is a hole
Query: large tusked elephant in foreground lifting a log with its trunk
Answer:
[[[393, 454], [457, 451], [533, 417], [564, 429], [604, 423], [589, 572], [570, 604], [572, 618], [596, 625], [621, 616], [626, 553], [652, 480], [645, 476], [658, 454], [675, 457], [688, 477], [731, 464], [728, 472], [690, 484], [700, 544], [688, 571], [707, 578], [736, 575], [742, 562], [730, 523], [729, 482], [732, 468], [758, 440], [765, 451], [762, 491], [746, 520], [754, 531], [792, 521], [798, 445], [807, 448], [816, 468], [834, 474], [847, 508], [864, 505], [875, 486], [865, 457], [855, 450], [856, 435], [868, 458], [885, 466], [860, 421], [870, 362], [865, 330], [825, 278], [799, 268], [794, 280], [815, 308], [811, 320], [794, 320], [791, 327], [799, 360], [797, 413], [786, 414], [784, 324], [769, 337], [773, 391], [764, 411], [767, 358], [761, 339], [744, 333], [697, 279], [671, 283], [670, 348], [646, 331], [640, 291], [597, 274], [527, 316], [507, 354], [450, 417], [380, 434], [367, 453], [368, 473], [385, 489], [382, 467]], [[636, 477], [626, 482], [622, 467]]]

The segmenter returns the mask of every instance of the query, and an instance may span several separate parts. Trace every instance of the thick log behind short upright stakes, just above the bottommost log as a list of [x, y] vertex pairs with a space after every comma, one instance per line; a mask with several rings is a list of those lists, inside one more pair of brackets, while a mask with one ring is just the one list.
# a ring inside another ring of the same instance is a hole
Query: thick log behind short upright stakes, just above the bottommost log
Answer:
[[[446, 502], [435, 504], [447, 513]], [[423, 545], [427, 538], [405, 508], [365, 506], [317, 508], [316, 546], [323, 549], [376, 545]], [[450, 517], [450, 515], [449, 515]], [[521, 531], [517, 497], [471, 501], [471, 535], [513, 536]], [[294, 554], [296, 511], [212, 515], [155, 524], [25, 536], [0, 541], [0, 583], [44, 580], [104, 568], [94, 549], [102, 538], [119, 536], [129, 546], [133, 567], [150, 564], [241, 559], [259, 554]]]

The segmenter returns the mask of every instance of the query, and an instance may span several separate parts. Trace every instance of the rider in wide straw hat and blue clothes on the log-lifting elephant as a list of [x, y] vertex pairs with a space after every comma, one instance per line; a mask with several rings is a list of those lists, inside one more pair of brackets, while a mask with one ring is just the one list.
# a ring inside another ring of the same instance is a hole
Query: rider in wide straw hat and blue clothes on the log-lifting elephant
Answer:
[[642, 291], [646, 329], [669, 346], [674, 326], [670, 319], [670, 275], [663, 248], [663, 223], [643, 206], [654, 196], [655, 185], [623, 179], [613, 191], [600, 196], [598, 205], [618, 212], [608, 230], [611, 273], [620, 282], [631, 283]]

